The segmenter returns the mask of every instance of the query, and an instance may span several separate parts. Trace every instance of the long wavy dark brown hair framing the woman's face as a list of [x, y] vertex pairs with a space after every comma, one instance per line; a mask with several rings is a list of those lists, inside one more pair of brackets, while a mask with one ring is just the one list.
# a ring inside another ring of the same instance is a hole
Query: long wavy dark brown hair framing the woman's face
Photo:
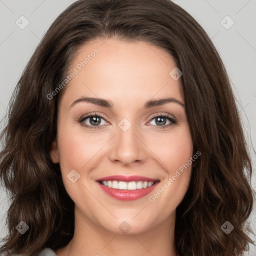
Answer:
[[[194, 150], [201, 152], [178, 205], [175, 249], [181, 255], [241, 255], [253, 203], [251, 162], [230, 81], [203, 28], [170, 0], [78, 0], [51, 24], [11, 96], [1, 132], [0, 177], [11, 199], [1, 251], [32, 256], [65, 246], [73, 235], [74, 203], [60, 166], [49, 156], [56, 136], [61, 83], [78, 47], [96, 38], [143, 40], [168, 51], [184, 92]], [[20, 235], [23, 220], [29, 229]], [[227, 235], [220, 226], [228, 220]]]

